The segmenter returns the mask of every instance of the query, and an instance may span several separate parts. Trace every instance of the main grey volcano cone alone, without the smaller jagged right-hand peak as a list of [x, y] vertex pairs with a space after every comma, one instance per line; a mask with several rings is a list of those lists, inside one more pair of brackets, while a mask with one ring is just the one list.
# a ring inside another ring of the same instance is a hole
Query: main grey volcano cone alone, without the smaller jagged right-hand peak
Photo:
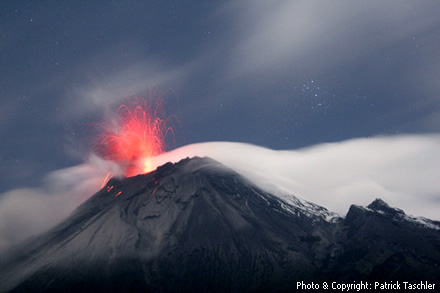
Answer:
[[2, 290], [288, 288], [292, 275], [318, 275], [323, 248], [313, 243], [329, 245], [333, 230], [219, 163], [193, 158], [112, 179], [17, 250]]

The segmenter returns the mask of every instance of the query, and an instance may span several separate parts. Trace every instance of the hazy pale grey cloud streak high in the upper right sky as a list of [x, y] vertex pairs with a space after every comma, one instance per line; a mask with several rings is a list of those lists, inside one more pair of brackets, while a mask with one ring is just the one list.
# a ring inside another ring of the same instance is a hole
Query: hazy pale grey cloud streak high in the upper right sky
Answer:
[[286, 62], [323, 72], [411, 42], [440, 24], [439, 5], [431, 1], [244, 3], [234, 23], [240, 40], [230, 62], [234, 76]]

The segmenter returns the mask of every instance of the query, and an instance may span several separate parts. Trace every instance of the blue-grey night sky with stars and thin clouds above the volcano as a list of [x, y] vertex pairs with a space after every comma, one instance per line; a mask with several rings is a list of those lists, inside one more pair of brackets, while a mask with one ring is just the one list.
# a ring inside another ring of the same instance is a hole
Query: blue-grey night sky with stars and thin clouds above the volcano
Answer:
[[176, 147], [272, 149], [440, 131], [438, 1], [2, 1], [0, 191], [90, 152], [127, 96]]

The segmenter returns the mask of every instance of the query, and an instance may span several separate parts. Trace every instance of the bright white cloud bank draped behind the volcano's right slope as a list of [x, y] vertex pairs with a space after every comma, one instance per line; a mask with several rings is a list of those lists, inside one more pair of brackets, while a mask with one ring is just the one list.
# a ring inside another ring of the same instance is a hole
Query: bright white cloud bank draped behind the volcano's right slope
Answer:
[[296, 151], [230, 142], [189, 145], [156, 165], [209, 156], [269, 191], [284, 190], [345, 215], [382, 198], [409, 214], [440, 220], [440, 136], [353, 139]]

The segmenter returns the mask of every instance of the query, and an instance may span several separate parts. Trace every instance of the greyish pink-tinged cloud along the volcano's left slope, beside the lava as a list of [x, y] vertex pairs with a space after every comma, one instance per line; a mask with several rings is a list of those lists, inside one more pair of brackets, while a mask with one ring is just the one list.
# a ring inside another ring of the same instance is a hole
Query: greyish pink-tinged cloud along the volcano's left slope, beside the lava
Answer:
[[40, 188], [19, 188], [0, 194], [0, 251], [42, 233], [66, 218], [99, 190], [115, 166], [91, 157], [82, 165], [49, 173]]

